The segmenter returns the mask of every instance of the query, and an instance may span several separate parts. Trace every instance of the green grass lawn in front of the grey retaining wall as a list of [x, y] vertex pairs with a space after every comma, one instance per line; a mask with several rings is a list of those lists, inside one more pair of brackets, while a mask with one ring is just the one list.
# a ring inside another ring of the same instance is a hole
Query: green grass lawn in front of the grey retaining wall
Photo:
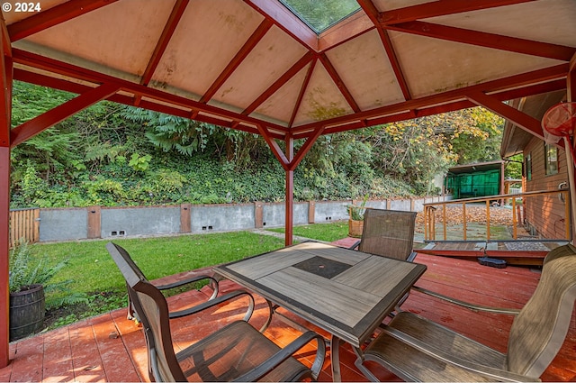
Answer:
[[[294, 227], [294, 235], [332, 242], [347, 236], [347, 223], [317, 223]], [[284, 229], [273, 229], [284, 233]], [[46, 256], [50, 264], [67, 259], [67, 266], [54, 281], [69, 280], [71, 291], [84, 294], [87, 304], [51, 308], [45, 326], [49, 329], [102, 314], [126, 305], [124, 279], [106, 251], [109, 240], [36, 243], [30, 245], [33, 257]], [[284, 246], [282, 236], [250, 232], [192, 234], [155, 238], [114, 239], [125, 248], [148, 279], [156, 279], [191, 269], [201, 269], [240, 260]], [[47, 304], [57, 295], [46, 296]]]

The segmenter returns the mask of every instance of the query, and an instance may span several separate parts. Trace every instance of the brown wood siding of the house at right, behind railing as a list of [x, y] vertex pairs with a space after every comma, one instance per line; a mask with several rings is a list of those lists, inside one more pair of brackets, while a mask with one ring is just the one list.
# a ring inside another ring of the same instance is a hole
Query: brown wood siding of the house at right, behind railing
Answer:
[[[533, 139], [524, 150], [524, 157], [532, 156], [532, 179], [527, 180], [526, 171], [523, 177], [523, 187], [527, 192], [555, 190], [563, 182], [568, 182], [566, 171], [566, 154], [558, 149], [558, 173], [545, 173], [544, 141]], [[524, 200], [525, 220], [527, 226], [546, 239], [566, 237], [565, 208], [560, 195], [531, 196]]]

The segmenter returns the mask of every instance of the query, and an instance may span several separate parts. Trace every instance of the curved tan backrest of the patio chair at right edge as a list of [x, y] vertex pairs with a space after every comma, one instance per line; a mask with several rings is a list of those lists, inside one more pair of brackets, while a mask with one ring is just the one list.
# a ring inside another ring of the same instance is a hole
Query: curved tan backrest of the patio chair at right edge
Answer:
[[534, 295], [509, 333], [508, 368], [539, 378], [563, 345], [576, 300], [576, 248], [564, 245], [545, 261]]

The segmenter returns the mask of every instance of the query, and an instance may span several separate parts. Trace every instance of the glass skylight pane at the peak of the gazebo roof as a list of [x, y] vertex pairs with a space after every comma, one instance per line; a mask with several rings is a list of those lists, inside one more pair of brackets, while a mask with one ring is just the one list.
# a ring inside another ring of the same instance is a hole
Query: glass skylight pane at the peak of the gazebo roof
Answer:
[[360, 5], [356, 0], [279, 0], [316, 34], [355, 14]]

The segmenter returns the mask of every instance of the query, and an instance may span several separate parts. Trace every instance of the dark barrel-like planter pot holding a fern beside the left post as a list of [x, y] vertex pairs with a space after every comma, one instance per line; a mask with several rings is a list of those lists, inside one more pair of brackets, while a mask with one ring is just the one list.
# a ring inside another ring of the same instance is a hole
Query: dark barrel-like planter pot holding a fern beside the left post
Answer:
[[10, 342], [41, 330], [44, 324], [44, 287], [10, 293]]

